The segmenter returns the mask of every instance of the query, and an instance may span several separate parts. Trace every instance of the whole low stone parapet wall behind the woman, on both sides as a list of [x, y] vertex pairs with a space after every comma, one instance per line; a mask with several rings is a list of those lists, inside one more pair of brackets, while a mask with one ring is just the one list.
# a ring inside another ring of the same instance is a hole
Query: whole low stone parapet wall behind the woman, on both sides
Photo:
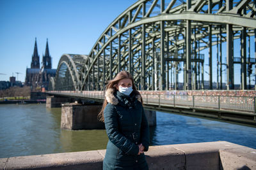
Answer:
[[[0, 169], [102, 169], [106, 150], [0, 159]], [[255, 169], [256, 150], [226, 141], [150, 146], [149, 169]]]

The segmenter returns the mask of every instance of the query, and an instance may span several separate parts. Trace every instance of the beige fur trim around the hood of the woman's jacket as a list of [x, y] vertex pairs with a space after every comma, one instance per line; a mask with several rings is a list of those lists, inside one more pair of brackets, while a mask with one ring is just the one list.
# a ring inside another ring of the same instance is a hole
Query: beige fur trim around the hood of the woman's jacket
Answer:
[[[121, 95], [119, 95], [119, 93], [118, 93], [118, 96], [122, 97]], [[118, 97], [118, 96], [116, 96], [116, 90], [115, 89], [110, 88], [110, 89], [107, 89], [106, 92], [105, 92], [106, 100], [108, 101], [108, 103], [111, 103], [113, 105], [117, 105], [118, 103], [120, 103], [120, 101], [122, 101], [122, 99], [120, 99], [120, 97]], [[140, 103], [141, 103], [141, 96], [139, 94], [136, 95], [135, 98], [138, 101], [140, 101]], [[125, 104], [125, 102], [124, 102], [124, 104]]]

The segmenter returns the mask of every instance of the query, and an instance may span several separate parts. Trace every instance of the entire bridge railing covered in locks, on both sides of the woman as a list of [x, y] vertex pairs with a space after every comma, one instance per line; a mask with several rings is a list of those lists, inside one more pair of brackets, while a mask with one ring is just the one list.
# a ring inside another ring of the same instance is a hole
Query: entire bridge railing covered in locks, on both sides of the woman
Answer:
[[[52, 91], [52, 94], [86, 97], [104, 100], [104, 91]], [[241, 96], [189, 96], [177, 94], [141, 94], [143, 103], [155, 106], [200, 108], [223, 111], [239, 111], [256, 115], [255, 97]]]

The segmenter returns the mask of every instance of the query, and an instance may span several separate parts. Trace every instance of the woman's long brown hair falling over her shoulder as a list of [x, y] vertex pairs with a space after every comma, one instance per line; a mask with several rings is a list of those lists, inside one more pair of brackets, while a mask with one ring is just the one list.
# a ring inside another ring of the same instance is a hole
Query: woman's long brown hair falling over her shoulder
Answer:
[[[116, 91], [116, 85], [118, 84], [118, 81], [124, 79], [124, 78], [129, 78], [130, 80], [132, 80], [132, 89], [133, 89], [133, 92], [136, 94], [136, 95], [140, 95], [140, 92], [138, 92], [138, 90], [136, 89], [135, 85], [134, 85], [134, 80], [131, 76], [131, 74], [128, 72], [128, 71], [120, 71], [113, 80], [109, 80], [108, 81], [108, 85], [106, 85], [106, 89], [105, 89], [105, 92], [106, 90], [108, 89], [113, 89]], [[141, 103], [143, 103], [142, 101], [142, 98], [141, 98]], [[102, 108], [100, 110], [100, 113], [98, 115], [98, 119], [101, 121], [101, 122], [104, 122], [104, 109], [106, 108], [108, 104], [108, 101], [106, 99], [106, 96], [105, 96], [105, 99], [104, 99], [104, 102], [102, 104]]]

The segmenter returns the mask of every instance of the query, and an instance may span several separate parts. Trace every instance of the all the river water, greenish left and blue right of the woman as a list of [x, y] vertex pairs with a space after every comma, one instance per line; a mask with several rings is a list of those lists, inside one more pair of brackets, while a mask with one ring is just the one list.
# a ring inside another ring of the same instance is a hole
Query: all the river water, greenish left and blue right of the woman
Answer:
[[[45, 104], [0, 105], [0, 158], [106, 149], [105, 130], [60, 129], [61, 108]], [[256, 129], [157, 112], [150, 145], [229, 141], [256, 148]]]

